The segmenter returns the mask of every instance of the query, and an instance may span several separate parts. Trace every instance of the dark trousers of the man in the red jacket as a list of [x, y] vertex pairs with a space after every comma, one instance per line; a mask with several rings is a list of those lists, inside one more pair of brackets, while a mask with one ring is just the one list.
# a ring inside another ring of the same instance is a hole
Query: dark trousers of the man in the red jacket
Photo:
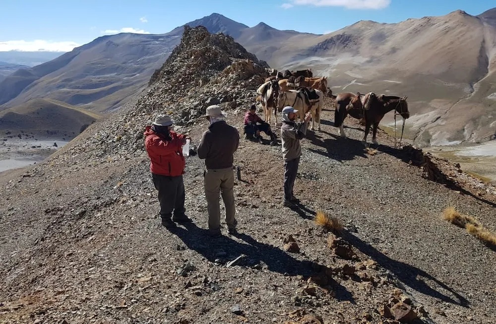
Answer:
[[158, 190], [160, 202], [160, 217], [170, 219], [185, 216], [185, 185], [183, 176], [168, 177], [152, 173], [153, 184]]

